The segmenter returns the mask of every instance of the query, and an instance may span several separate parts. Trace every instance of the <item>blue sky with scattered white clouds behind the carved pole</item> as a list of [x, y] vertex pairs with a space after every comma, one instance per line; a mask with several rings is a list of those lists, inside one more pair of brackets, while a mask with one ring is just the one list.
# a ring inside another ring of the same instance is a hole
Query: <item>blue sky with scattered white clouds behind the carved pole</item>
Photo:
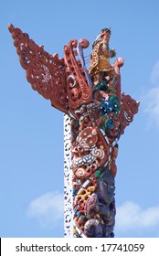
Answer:
[[8, 23], [59, 58], [70, 39], [91, 46], [111, 27], [122, 91], [141, 102], [119, 143], [115, 236], [159, 237], [159, 2], [1, 0], [0, 9], [0, 237], [63, 237], [63, 113], [27, 83]]

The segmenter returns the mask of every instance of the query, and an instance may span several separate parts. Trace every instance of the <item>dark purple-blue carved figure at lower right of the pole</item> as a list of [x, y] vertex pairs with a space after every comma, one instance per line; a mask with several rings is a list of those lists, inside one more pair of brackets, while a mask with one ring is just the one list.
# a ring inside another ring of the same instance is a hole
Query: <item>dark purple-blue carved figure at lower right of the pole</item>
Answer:
[[86, 216], [89, 220], [85, 223], [84, 231], [87, 236], [92, 236], [92, 233], [95, 234], [95, 237], [114, 236], [116, 212], [114, 191], [114, 176], [109, 169], [103, 168], [96, 193], [93, 193], [86, 202]]

